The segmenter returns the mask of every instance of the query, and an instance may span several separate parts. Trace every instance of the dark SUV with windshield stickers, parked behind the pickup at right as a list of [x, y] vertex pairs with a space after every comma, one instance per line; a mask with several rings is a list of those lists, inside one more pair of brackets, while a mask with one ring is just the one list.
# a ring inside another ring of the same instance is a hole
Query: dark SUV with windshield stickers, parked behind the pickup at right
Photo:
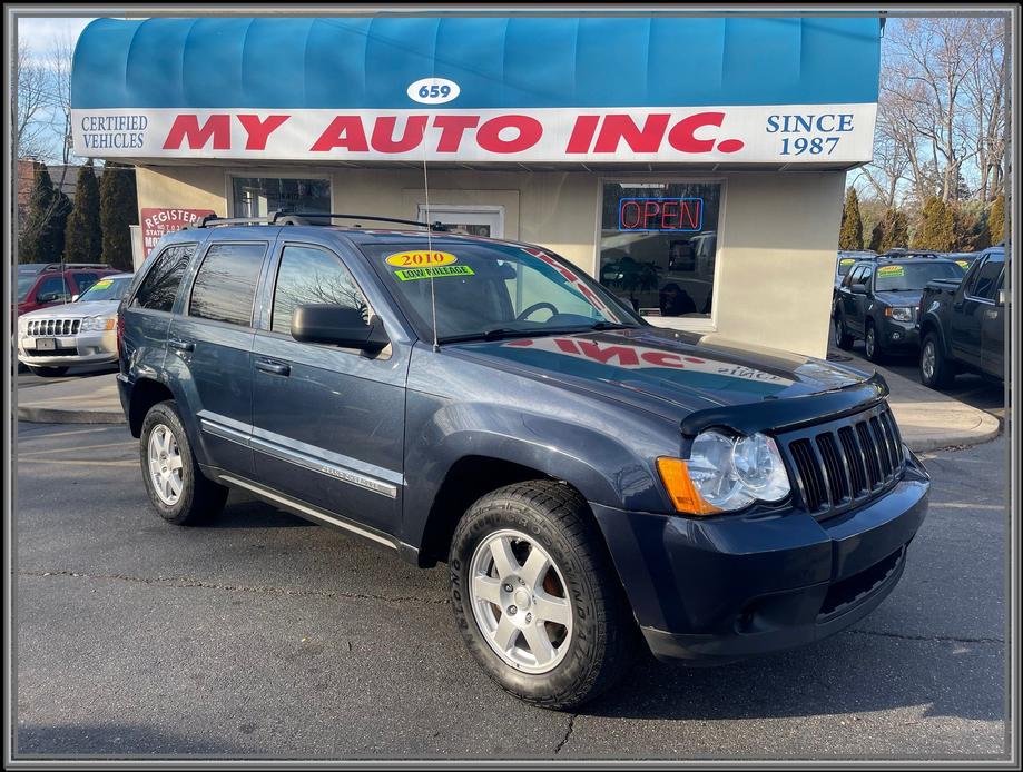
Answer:
[[963, 269], [938, 257], [878, 257], [862, 260], [835, 293], [835, 342], [849, 349], [863, 338], [867, 358], [883, 362], [896, 350], [917, 346], [921, 291], [931, 279], [961, 278]]

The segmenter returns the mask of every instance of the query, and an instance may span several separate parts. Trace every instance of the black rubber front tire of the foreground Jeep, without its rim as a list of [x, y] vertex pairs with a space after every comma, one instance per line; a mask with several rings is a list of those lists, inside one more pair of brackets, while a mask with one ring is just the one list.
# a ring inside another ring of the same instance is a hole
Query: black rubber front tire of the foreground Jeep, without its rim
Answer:
[[[544, 673], [521, 672], [502, 660], [473, 613], [473, 555], [484, 540], [503, 529], [527, 534], [542, 546], [564, 577], [563, 597], [572, 601], [572, 637], [562, 644], [568, 650]], [[586, 501], [568, 485], [531, 481], [480, 498], [455, 528], [447, 566], [452, 607], [465, 645], [488, 675], [525, 702], [572, 709], [614, 685], [636, 657], [639, 631], [631, 607]]]

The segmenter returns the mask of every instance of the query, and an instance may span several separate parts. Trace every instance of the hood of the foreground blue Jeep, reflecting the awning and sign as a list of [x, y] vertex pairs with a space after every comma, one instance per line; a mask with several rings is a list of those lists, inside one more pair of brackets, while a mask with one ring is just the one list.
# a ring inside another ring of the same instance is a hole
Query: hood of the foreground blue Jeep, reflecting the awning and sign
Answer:
[[[641, 327], [445, 346], [459, 356], [677, 414], [835, 392], [868, 375], [712, 335]], [[659, 403], [659, 406], [657, 405]]]

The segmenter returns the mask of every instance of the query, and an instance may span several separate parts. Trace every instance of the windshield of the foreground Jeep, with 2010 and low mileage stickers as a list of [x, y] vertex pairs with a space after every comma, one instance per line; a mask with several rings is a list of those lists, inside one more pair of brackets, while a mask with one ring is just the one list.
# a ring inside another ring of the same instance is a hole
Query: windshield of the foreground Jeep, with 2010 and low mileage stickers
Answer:
[[360, 246], [426, 340], [431, 279], [441, 342], [643, 324], [582, 271], [533, 247], [451, 237], [433, 239], [432, 253], [407, 243]]

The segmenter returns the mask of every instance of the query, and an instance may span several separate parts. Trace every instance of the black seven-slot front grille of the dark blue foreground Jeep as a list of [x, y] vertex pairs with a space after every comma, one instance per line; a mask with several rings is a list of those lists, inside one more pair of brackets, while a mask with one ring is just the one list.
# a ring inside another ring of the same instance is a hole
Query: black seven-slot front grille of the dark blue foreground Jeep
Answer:
[[886, 405], [779, 439], [797, 502], [816, 517], [863, 504], [902, 477], [902, 439]]

